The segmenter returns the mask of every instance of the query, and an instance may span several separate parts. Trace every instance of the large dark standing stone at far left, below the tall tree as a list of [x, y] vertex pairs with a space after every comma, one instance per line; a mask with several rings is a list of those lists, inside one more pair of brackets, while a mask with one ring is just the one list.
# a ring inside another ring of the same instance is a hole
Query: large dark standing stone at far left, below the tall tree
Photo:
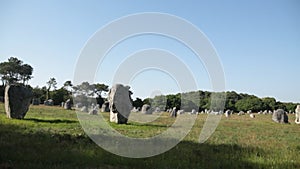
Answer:
[[24, 86], [6, 86], [5, 111], [7, 117], [23, 119], [29, 109], [32, 97], [32, 91]]

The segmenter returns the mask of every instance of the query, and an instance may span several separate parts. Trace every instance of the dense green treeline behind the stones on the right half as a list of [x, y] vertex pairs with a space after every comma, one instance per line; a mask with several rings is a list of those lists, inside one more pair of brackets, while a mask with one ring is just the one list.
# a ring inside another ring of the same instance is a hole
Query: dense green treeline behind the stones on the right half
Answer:
[[[226, 97], [225, 97], [226, 96]], [[214, 102], [212, 102], [214, 98]], [[254, 95], [238, 94], [234, 91], [213, 93], [208, 91], [188, 92], [175, 95], [161, 95], [153, 99], [148, 98], [147, 101], [153, 107], [159, 107], [162, 110], [167, 110], [173, 107], [191, 111], [192, 109], [203, 111], [205, 109], [213, 109], [218, 111], [218, 106], [224, 105], [224, 109], [233, 111], [248, 111], [259, 112], [264, 110], [284, 109], [288, 112], [295, 111], [296, 103], [282, 103], [276, 101], [275, 98], [266, 97], [258, 98]]]

